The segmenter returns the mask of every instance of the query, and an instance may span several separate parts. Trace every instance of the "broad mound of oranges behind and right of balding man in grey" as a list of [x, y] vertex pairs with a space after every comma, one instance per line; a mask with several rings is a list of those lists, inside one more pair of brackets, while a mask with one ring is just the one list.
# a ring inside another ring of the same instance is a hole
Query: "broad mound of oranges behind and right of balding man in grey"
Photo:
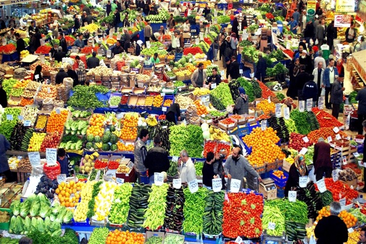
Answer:
[[273, 163], [285, 158], [285, 153], [276, 145], [280, 141], [277, 131], [272, 127], [267, 127], [262, 131], [261, 127], [254, 128], [253, 131], [242, 138], [247, 146], [252, 146], [252, 153], [248, 156], [248, 161], [253, 166], [263, 166], [266, 163]]

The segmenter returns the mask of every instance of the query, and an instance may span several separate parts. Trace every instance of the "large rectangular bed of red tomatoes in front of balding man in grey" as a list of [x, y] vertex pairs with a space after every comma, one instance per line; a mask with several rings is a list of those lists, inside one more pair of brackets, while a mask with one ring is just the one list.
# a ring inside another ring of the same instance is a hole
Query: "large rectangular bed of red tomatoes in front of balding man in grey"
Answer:
[[[258, 238], [262, 234], [263, 196], [244, 192], [228, 193], [224, 201], [225, 237]], [[239, 214], [240, 213], [240, 214]]]

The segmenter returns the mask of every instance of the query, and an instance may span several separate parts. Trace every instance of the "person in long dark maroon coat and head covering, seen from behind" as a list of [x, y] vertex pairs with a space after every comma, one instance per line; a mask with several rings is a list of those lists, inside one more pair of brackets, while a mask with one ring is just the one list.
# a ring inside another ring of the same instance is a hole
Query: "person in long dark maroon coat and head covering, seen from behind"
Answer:
[[318, 142], [314, 145], [314, 174], [316, 181], [323, 178], [332, 177], [332, 162], [330, 161], [330, 145], [326, 143], [323, 137], [319, 138]]

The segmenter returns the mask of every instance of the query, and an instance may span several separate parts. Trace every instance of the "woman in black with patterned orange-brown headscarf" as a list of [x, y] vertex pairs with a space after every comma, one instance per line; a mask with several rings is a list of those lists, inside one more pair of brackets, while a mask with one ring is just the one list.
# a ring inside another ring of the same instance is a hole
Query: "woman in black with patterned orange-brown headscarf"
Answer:
[[298, 154], [295, 158], [295, 162], [291, 165], [288, 172], [288, 179], [285, 186], [285, 197], [288, 196], [288, 191], [294, 190], [299, 187], [299, 179], [303, 176], [308, 176], [305, 164], [305, 156], [303, 154]]

